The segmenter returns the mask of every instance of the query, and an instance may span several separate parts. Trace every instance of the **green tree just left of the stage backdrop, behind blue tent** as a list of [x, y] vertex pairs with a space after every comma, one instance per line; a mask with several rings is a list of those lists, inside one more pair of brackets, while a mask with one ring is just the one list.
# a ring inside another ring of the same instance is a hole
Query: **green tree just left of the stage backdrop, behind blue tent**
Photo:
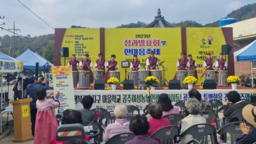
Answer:
[[49, 60], [51, 63], [54, 62], [54, 40], [49, 40], [47, 45], [43, 47], [43, 54], [42, 56]]

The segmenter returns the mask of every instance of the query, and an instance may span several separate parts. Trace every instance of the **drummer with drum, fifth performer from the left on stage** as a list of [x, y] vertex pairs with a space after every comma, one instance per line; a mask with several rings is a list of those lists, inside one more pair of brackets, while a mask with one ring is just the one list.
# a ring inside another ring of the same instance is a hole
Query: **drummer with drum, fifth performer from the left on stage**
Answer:
[[133, 55], [133, 61], [131, 62], [131, 71], [129, 72], [129, 80], [134, 81], [134, 86], [138, 86], [138, 70], [140, 69], [140, 61], [138, 61], [137, 55]]

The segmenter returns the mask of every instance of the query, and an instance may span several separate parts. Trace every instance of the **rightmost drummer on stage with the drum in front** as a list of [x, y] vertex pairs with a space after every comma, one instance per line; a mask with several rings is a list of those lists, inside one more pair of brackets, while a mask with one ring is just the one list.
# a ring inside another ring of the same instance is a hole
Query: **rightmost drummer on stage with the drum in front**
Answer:
[[220, 53], [220, 58], [216, 60], [216, 67], [218, 70], [218, 85], [219, 86], [227, 86], [227, 77], [228, 77], [228, 71], [227, 71], [227, 62], [225, 59], [223, 59], [223, 54]]

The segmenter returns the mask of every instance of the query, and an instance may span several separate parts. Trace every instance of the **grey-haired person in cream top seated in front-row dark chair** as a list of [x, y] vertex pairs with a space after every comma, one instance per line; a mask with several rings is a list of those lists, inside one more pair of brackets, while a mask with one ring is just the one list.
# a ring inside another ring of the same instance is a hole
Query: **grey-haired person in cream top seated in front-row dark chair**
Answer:
[[[206, 123], [205, 118], [199, 115], [201, 108], [200, 108], [200, 102], [198, 102], [197, 99], [191, 98], [187, 100], [187, 103], [185, 104], [185, 108], [187, 109], [189, 115], [181, 120], [180, 134], [182, 134], [182, 132], [186, 131], [186, 129], [188, 129], [193, 125]], [[186, 135], [182, 138], [180, 143], [188, 143], [188, 141], [192, 139], [193, 138], [191, 135]]]

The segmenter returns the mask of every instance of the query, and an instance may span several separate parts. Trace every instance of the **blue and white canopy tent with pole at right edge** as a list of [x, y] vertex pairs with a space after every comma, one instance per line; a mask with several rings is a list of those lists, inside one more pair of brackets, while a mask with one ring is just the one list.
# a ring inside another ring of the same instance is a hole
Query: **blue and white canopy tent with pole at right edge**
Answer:
[[[246, 45], [243, 49], [234, 52], [234, 60], [235, 61], [256, 61], [256, 40], [254, 40], [251, 44]], [[253, 69], [252, 69], [252, 87], [253, 87]]]

